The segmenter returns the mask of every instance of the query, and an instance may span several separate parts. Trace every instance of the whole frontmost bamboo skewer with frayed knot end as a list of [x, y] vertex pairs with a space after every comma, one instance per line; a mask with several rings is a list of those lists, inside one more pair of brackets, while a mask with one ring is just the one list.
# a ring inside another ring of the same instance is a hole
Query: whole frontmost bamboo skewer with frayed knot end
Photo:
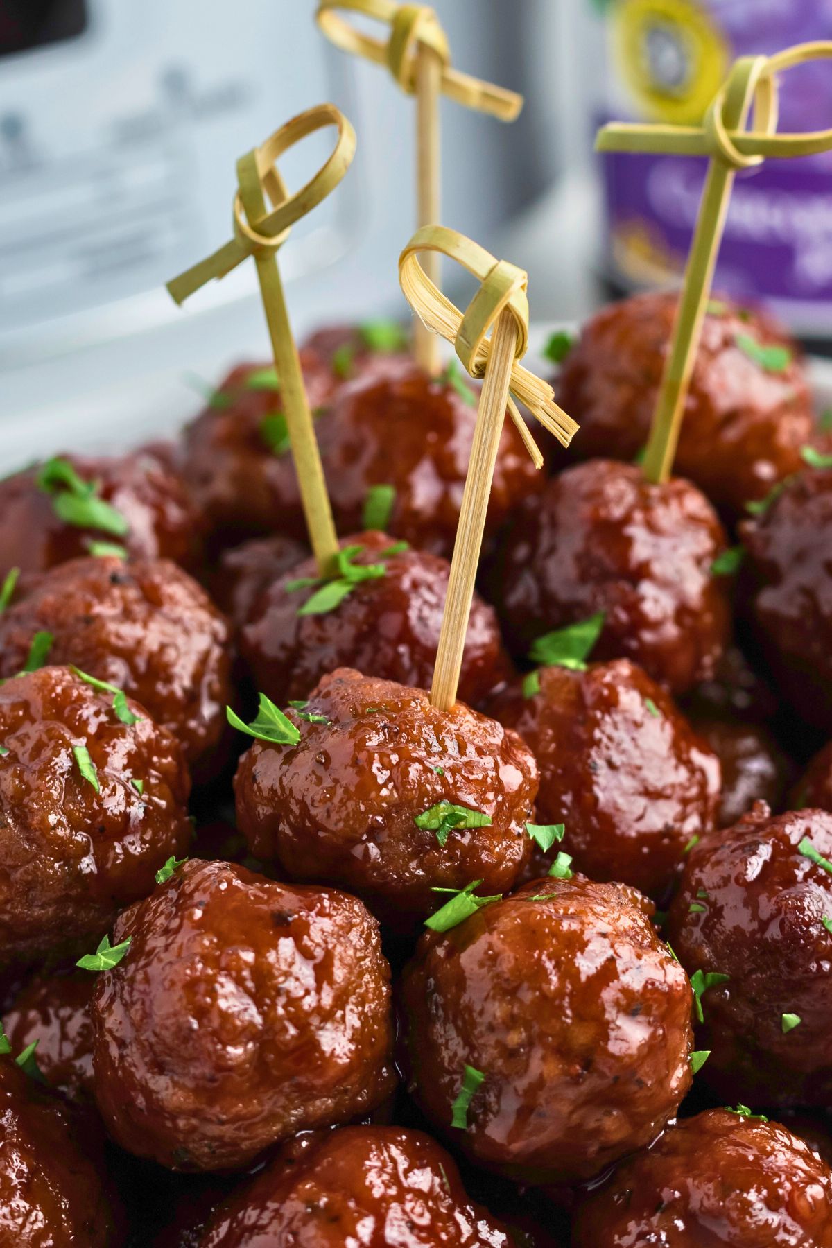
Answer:
[[[430, 252], [449, 256], [479, 278], [481, 285], [464, 314], [442, 293], [420, 263], [419, 256]], [[485, 378], [430, 689], [432, 704], [442, 710], [450, 710], [457, 700], [506, 406], [511, 419], [525, 429], [524, 443], [538, 467], [543, 459], [525, 428], [515, 399], [524, 403], [531, 416], [563, 446], [569, 446], [578, 426], [558, 407], [551, 387], [519, 363], [529, 344], [529, 301], [525, 293], [528, 277], [521, 268], [504, 260], [495, 260], [455, 230], [425, 226], [415, 232], [399, 257], [399, 282], [425, 328], [454, 343], [459, 359], [472, 377]]]

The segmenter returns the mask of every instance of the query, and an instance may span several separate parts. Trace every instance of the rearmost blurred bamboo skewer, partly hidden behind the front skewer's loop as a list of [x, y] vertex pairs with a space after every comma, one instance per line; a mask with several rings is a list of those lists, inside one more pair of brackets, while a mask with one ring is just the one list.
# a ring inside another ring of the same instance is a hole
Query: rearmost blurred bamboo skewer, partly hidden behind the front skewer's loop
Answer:
[[[341, 12], [362, 14], [390, 27], [387, 40], [356, 30]], [[488, 112], [501, 121], [514, 121], [523, 96], [514, 91], [460, 74], [450, 65], [445, 32], [433, 9], [395, 0], [318, 0], [318, 26], [337, 47], [385, 65], [397, 84], [417, 99], [417, 225], [432, 225], [442, 217], [442, 144], [439, 105], [443, 95]], [[427, 258], [428, 275], [440, 287], [440, 257]], [[413, 353], [432, 377], [439, 374], [442, 354], [435, 336], [417, 324]]]

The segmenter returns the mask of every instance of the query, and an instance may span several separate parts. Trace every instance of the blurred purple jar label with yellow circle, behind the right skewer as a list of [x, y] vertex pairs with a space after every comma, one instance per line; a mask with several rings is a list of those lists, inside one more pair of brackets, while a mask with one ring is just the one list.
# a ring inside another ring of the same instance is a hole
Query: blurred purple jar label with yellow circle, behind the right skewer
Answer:
[[[731, 62], [832, 39], [832, 0], [612, 0], [610, 120], [701, 121]], [[832, 126], [832, 61], [781, 79], [781, 131]], [[605, 154], [607, 263], [624, 285], [685, 267], [706, 162]], [[715, 286], [771, 303], [795, 328], [832, 336], [832, 154], [770, 158], [737, 175]]]

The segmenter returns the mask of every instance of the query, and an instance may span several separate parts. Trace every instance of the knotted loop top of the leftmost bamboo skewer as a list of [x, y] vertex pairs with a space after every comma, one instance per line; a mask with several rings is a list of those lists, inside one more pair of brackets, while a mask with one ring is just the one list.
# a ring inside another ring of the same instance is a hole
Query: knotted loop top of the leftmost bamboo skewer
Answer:
[[[307, 135], [336, 126], [336, 146], [318, 172], [294, 195], [288, 195], [276, 161]], [[276, 252], [283, 246], [296, 221], [312, 212], [334, 191], [356, 155], [356, 131], [334, 104], [321, 104], [287, 121], [264, 144], [237, 161], [238, 190], [233, 203], [233, 238], [206, 260], [167, 283], [172, 298], [183, 303], [212, 278], [226, 277], [249, 256]], [[272, 211], [254, 215], [246, 203], [268, 196]]]

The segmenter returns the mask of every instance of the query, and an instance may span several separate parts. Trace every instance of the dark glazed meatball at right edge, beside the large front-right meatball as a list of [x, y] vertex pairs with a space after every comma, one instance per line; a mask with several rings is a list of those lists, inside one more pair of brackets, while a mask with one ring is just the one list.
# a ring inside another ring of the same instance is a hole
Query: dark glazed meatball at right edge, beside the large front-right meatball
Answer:
[[[832, 815], [761, 802], [687, 856], [667, 937], [702, 996], [704, 1068], [747, 1104], [832, 1104]], [[826, 864], [826, 865], [825, 865]]]

